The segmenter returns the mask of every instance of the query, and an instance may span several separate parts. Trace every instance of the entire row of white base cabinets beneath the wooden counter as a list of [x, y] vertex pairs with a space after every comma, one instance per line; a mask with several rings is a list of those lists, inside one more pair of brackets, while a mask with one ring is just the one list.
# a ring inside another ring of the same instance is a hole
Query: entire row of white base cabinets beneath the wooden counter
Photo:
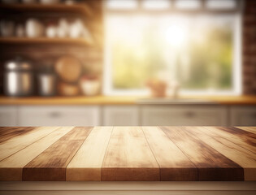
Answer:
[[0, 106], [2, 127], [98, 125], [256, 126], [256, 106], [210, 104]]

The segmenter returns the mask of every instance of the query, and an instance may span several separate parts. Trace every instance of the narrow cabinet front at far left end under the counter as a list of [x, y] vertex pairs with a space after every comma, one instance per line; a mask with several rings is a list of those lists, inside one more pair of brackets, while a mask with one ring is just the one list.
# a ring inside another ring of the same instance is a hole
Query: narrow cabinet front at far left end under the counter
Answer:
[[0, 106], [0, 126], [17, 126], [16, 106]]

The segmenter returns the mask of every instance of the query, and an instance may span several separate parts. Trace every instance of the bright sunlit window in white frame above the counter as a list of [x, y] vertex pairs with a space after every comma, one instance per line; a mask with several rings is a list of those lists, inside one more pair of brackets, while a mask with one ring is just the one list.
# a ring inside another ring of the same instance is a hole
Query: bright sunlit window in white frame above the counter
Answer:
[[104, 93], [147, 94], [156, 77], [178, 82], [183, 94], [241, 93], [240, 13], [166, 5], [170, 11], [106, 9]]

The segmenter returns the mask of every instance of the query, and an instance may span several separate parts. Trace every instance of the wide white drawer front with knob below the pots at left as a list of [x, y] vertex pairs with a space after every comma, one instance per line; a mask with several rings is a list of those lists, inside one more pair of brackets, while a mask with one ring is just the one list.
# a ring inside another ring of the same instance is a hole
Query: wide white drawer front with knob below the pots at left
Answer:
[[20, 126], [97, 126], [99, 106], [20, 106]]

